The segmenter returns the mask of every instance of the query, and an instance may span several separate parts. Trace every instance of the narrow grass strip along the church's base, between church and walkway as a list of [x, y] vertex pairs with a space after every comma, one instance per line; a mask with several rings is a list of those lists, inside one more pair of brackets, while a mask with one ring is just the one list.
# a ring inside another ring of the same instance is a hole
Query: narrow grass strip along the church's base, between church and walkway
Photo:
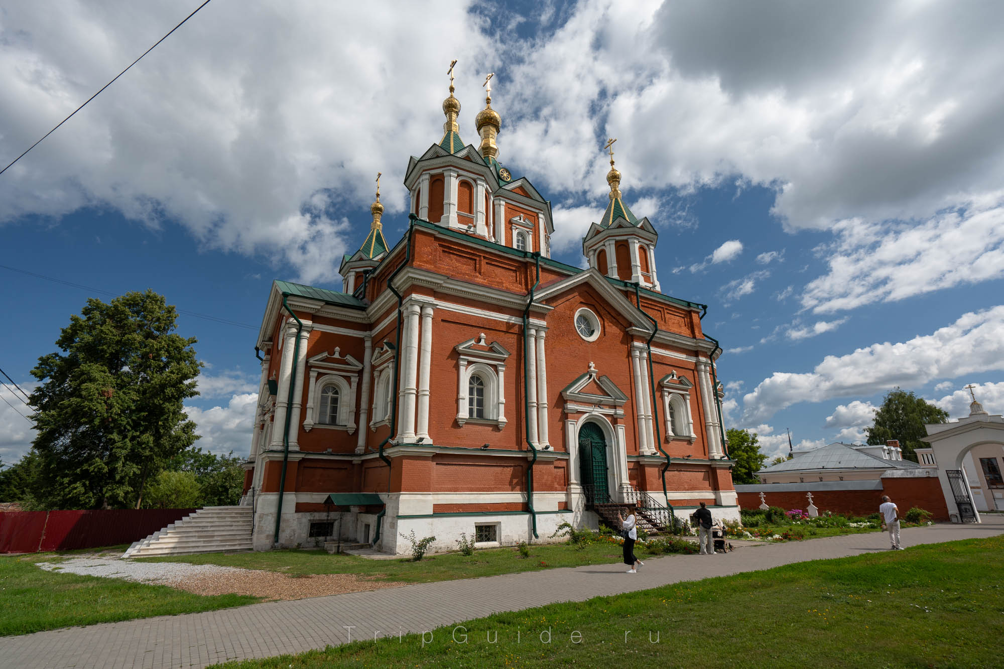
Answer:
[[265, 550], [229, 555], [207, 552], [196, 555], [143, 558], [138, 562], [224, 565], [283, 574], [358, 574], [382, 581], [428, 583], [514, 572], [536, 572], [557, 567], [617, 563], [620, 559], [620, 546], [603, 541], [589, 544], [582, 549], [567, 543], [534, 544], [530, 546], [529, 558], [520, 556], [515, 547], [506, 547], [478, 550], [469, 558], [459, 552], [427, 555], [418, 563], [408, 558], [370, 560], [342, 553], [329, 554], [321, 549]]

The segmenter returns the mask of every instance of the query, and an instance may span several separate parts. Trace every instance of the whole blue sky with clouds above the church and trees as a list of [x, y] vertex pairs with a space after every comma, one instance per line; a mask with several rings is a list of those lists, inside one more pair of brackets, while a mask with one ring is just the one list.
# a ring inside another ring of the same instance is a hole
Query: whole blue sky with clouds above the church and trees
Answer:
[[[3, 3], [0, 164], [188, 4]], [[1002, 413], [1002, 24], [991, 0], [213, 0], [0, 175], [0, 369], [30, 393], [88, 297], [153, 288], [199, 340], [198, 445], [246, 455], [271, 281], [340, 287], [378, 172], [401, 237], [456, 58], [461, 137], [494, 72], [499, 159], [551, 200], [556, 259], [583, 264], [617, 139], [663, 291], [709, 305], [726, 426], [771, 457], [786, 429], [862, 443], [896, 387]], [[8, 386], [5, 463], [33, 436]]]

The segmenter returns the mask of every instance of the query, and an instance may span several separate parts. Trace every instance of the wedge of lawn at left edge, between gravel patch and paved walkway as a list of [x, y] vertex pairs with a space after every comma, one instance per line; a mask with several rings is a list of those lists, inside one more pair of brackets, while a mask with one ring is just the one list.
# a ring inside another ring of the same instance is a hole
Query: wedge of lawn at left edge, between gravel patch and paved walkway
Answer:
[[0, 636], [212, 611], [259, 601], [238, 595], [200, 597], [167, 586], [46, 572], [34, 565], [78, 552], [85, 551], [0, 556]]

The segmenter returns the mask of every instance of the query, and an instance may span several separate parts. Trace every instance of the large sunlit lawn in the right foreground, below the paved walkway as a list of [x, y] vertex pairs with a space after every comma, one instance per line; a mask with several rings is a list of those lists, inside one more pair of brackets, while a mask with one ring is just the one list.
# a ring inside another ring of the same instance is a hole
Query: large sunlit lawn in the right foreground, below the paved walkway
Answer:
[[1002, 554], [996, 536], [801, 563], [497, 614], [466, 644], [451, 626], [224, 666], [1001, 666]]

